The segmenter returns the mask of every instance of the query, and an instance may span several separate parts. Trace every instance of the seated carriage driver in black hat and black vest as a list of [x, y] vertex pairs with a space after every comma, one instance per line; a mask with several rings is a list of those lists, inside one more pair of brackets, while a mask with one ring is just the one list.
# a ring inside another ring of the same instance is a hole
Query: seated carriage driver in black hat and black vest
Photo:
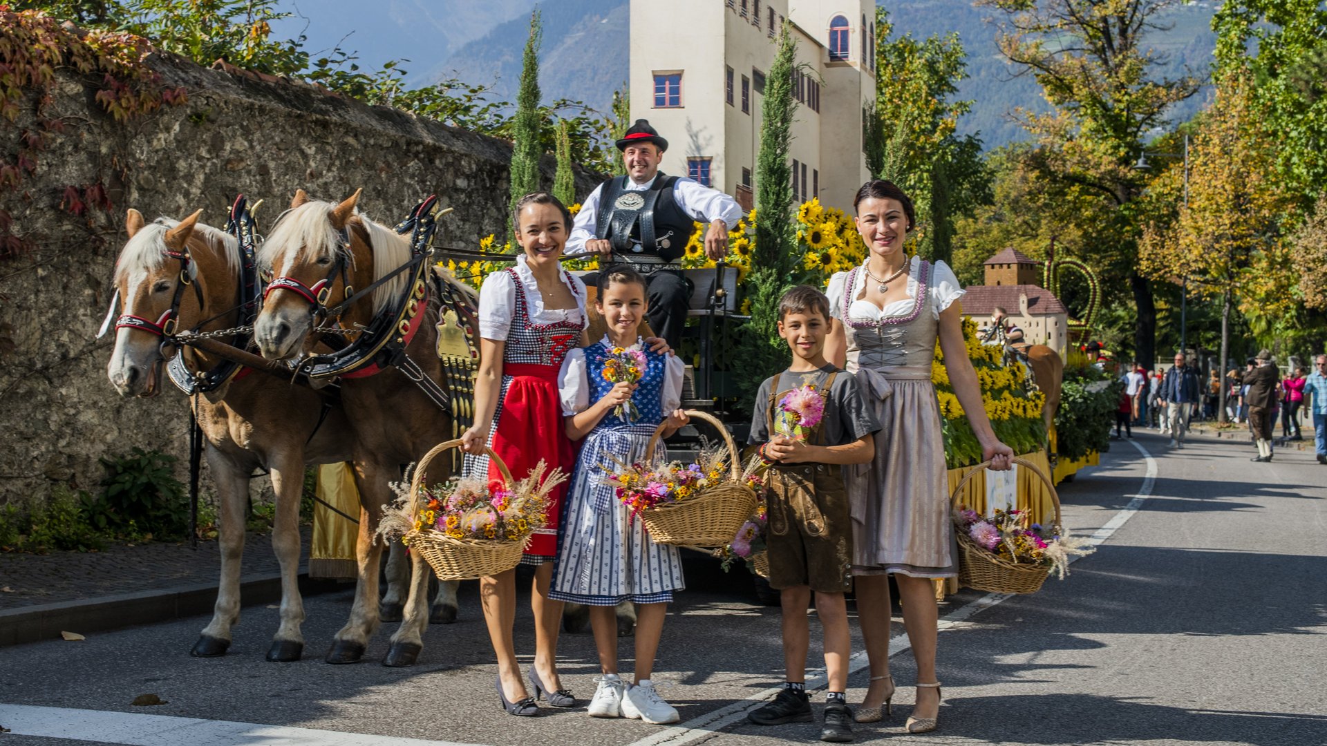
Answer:
[[[709, 223], [705, 252], [723, 259], [729, 228], [742, 218], [742, 207], [719, 190], [685, 177], [660, 173], [667, 141], [645, 119], [617, 141], [626, 165], [625, 177], [613, 177], [585, 198], [576, 215], [567, 254], [594, 252], [600, 265], [622, 261], [649, 283], [648, 319], [654, 333], [677, 344], [686, 323], [690, 289], [682, 277], [682, 252], [695, 222]], [[594, 276], [584, 277], [593, 284]]]

